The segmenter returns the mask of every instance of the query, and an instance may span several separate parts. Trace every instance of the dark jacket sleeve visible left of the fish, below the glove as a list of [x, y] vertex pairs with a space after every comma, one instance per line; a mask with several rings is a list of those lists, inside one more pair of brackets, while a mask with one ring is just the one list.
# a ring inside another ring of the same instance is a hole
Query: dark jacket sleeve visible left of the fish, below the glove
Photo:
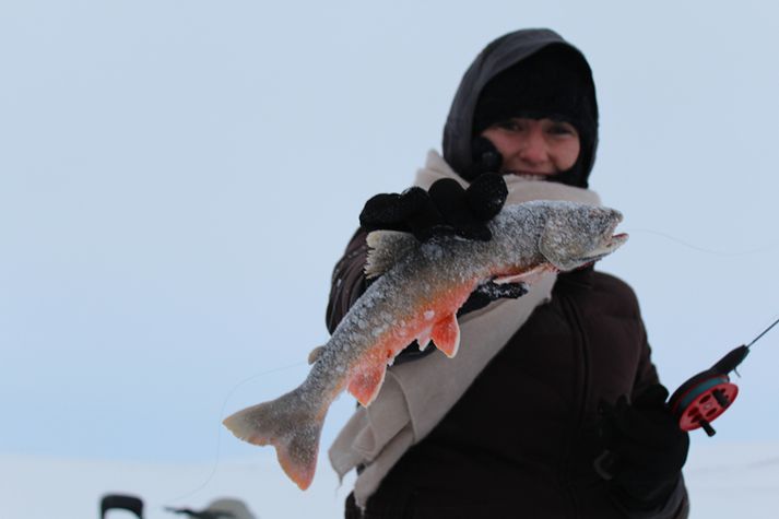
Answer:
[[363, 270], [368, 257], [368, 245], [365, 241], [367, 233], [358, 229], [352, 236], [343, 257], [335, 263], [330, 284], [330, 299], [326, 314], [328, 331], [332, 333], [343, 316], [354, 305], [367, 283]]

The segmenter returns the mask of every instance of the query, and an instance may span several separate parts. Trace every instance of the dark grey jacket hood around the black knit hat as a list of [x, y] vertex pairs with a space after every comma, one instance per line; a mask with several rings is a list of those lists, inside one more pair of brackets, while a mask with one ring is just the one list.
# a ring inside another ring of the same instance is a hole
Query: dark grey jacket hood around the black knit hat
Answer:
[[598, 103], [592, 71], [585, 56], [576, 47], [547, 28], [521, 30], [500, 36], [487, 45], [465, 71], [455, 94], [444, 128], [444, 158], [458, 174], [467, 178], [472, 178], [477, 174], [472, 150], [475, 137], [473, 135], [473, 115], [484, 86], [504, 70], [552, 45], [564, 46], [581, 59], [581, 70], [586, 75], [583, 82], [591, 90], [587, 97], [591, 102], [590, 108], [595, 119], [595, 131], [590, 142], [581, 143], [581, 151], [577, 166], [575, 166], [580, 168], [582, 182], [580, 187], [587, 187], [587, 179], [592, 170], [598, 148]]

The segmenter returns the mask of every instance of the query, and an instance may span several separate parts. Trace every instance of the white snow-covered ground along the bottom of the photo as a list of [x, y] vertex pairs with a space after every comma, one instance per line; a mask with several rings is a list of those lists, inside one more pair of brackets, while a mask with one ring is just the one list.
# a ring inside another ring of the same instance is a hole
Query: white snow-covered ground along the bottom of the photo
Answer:
[[[696, 438], [685, 471], [692, 518], [769, 518], [779, 510], [779, 444], [706, 444]], [[245, 502], [257, 519], [338, 518], [352, 480], [339, 486], [326, 460], [302, 493], [281, 472], [269, 449], [250, 460], [217, 464], [153, 464], [0, 456], [0, 517], [98, 517], [102, 495], [134, 494], [145, 519], [174, 516], [165, 506], [204, 508], [220, 497]], [[126, 517], [126, 512], [113, 514]]]

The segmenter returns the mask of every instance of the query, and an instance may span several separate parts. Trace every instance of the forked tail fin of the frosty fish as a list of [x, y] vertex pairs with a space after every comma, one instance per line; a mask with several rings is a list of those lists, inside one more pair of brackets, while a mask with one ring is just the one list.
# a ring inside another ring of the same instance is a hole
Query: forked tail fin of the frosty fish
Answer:
[[324, 413], [308, 404], [298, 388], [238, 411], [222, 423], [245, 441], [275, 447], [279, 464], [305, 491], [317, 468], [323, 422]]

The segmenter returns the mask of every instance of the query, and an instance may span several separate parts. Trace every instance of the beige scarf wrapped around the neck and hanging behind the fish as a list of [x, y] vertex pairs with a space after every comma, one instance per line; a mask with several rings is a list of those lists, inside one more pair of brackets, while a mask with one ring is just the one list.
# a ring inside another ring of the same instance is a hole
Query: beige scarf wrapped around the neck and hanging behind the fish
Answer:
[[[435, 151], [414, 184], [422, 188], [439, 178], [461, 179]], [[530, 200], [569, 200], [600, 204], [594, 191], [543, 180], [504, 177], [507, 204]], [[367, 498], [412, 445], [422, 440], [457, 403], [487, 363], [519, 330], [536, 306], [547, 302], [556, 274], [545, 274], [518, 299], [499, 299], [459, 319], [460, 349], [447, 358], [434, 352], [414, 362], [391, 366], [383, 386], [368, 408], [359, 408], [330, 448], [330, 462], [339, 476], [362, 464], [354, 485], [358, 506]]]

